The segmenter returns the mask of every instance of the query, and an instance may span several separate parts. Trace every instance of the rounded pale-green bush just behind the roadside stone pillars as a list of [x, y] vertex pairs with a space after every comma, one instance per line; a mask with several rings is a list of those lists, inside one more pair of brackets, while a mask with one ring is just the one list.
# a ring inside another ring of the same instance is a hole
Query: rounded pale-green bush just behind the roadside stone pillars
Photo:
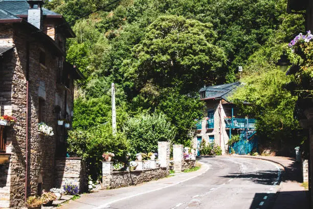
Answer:
[[164, 114], [141, 114], [130, 118], [123, 127], [133, 159], [137, 153], [158, 152], [158, 141], [174, 139], [175, 131]]

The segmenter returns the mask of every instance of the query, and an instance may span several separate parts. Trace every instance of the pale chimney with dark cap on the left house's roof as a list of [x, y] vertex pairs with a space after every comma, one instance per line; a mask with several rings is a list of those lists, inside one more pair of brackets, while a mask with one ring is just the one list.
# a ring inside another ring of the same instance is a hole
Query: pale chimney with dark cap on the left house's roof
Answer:
[[41, 6], [43, 5], [42, 0], [29, 0], [27, 1], [29, 4], [28, 9], [28, 17], [27, 21], [38, 28], [39, 30], [42, 30], [42, 9]]

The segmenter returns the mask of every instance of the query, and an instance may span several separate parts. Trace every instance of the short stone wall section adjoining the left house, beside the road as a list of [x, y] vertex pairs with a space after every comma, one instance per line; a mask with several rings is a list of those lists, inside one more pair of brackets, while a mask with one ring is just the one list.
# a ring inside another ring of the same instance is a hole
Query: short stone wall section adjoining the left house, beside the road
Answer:
[[86, 163], [81, 158], [59, 158], [55, 160], [55, 186], [61, 188], [66, 183], [79, 186], [79, 191], [86, 190]]

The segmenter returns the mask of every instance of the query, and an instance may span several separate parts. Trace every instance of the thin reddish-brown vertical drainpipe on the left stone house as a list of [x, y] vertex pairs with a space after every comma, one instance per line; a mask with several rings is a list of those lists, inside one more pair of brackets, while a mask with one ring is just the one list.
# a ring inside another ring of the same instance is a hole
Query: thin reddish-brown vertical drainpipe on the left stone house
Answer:
[[28, 183], [28, 103], [29, 103], [29, 41], [26, 43], [26, 147], [25, 147], [25, 202], [27, 200], [27, 183]]

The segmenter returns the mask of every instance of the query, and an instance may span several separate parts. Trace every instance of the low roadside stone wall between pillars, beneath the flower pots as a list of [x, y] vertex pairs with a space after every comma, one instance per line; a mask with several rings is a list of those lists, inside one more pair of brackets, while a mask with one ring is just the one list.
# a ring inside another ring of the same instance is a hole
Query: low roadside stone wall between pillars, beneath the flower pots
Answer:
[[115, 171], [111, 174], [112, 178], [109, 187], [119, 188], [123, 186], [131, 186], [143, 182], [164, 178], [168, 175], [166, 168], [147, 169], [142, 171]]

